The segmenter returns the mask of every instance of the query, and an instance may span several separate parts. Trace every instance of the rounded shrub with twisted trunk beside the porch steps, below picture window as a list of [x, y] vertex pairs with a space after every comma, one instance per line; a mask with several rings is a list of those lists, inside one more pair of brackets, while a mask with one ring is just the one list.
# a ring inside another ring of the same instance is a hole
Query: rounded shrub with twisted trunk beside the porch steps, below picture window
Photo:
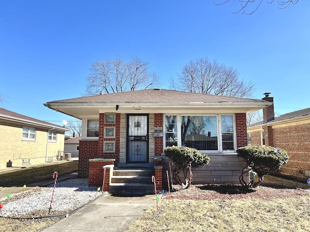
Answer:
[[[206, 154], [202, 154], [197, 149], [190, 147], [167, 146], [164, 152], [175, 166], [173, 172], [174, 180], [183, 186], [183, 188], [190, 186], [191, 176], [188, 179], [187, 174], [191, 168], [207, 165], [210, 161], [210, 158]], [[179, 175], [181, 171], [183, 171], [184, 178]]]

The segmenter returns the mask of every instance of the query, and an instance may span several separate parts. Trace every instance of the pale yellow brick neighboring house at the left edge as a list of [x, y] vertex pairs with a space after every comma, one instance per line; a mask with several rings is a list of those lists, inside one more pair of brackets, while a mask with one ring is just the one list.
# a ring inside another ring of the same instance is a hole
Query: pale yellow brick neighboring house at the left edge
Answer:
[[57, 160], [65, 131], [69, 130], [0, 108], [0, 168]]

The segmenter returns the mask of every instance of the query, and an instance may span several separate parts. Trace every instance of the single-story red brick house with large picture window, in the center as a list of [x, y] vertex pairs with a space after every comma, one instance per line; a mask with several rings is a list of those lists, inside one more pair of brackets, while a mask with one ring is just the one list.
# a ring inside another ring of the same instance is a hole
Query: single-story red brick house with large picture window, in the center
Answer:
[[270, 104], [155, 88], [53, 101], [45, 106], [82, 120], [79, 176], [93, 173], [90, 165], [101, 158], [115, 167], [155, 163], [162, 168], [155, 171], [165, 174], [169, 160], [164, 148], [186, 145], [211, 159], [209, 165], [194, 171], [193, 183], [233, 184], [239, 183], [245, 166], [236, 149], [247, 145], [246, 114]]

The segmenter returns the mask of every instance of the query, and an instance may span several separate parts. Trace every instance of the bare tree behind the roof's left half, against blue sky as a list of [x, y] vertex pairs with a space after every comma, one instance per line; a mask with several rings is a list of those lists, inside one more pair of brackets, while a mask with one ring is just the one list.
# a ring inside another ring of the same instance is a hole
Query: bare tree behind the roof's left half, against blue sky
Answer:
[[139, 58], [123, 61], [122, 58], [109, 58], [93, 63], [87, 77], [86, 92], [95, 95], [99, 92], [118, 93], [146, 89], [160, 84], [156, 73], [149, 70], [149, 63]]

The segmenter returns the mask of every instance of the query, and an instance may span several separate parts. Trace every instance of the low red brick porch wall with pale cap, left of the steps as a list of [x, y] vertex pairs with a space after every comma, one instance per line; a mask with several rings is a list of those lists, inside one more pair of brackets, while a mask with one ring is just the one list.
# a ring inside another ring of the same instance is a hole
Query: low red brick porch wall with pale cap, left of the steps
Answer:
[[91, 159], [89, 160], [89, 174], [88, 174], [88, 186], [103, 185], [104, 166], [109, 165], [106, 168], [106, 176], [104, 183], [104, 191], [109, 191], [110, 178], [112, 177], [115, 159]]

